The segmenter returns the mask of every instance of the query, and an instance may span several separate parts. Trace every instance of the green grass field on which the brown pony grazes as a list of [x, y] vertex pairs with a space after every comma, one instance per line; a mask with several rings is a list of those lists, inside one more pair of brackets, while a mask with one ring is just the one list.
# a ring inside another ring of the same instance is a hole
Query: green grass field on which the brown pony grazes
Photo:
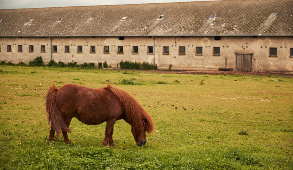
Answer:
[[[45, 94], [67, 83], [129, 92], [154, 134], [136, 146], [119, 120], [108, 149], [105, 122], [74, 118], [71, 144], [47, 141]], [[0, 90], [0, 169], [293, 169], [293, 78], [0, 66]]]

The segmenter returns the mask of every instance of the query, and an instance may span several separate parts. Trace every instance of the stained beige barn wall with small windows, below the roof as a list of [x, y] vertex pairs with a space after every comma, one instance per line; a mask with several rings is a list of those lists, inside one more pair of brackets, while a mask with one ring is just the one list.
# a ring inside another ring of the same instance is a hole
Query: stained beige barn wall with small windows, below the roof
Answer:
[[[133, 62], [153, 63], [154, 55], [147, 53], [147, 46], [154, 45], [155, 63], [161, 69], [183, 70], [218, 70], [227, 67], [236, 70], [236, 53], [253, 54], [252, 71], [282, 71], [293, 72], [293, 38], [289, 36], [222, 36], [221, 40], [214, 40], [214, 36], [197, 37], [51, 37], [52, 45], [57, 45], [57, 52], [52, 52], [52, 59], [64, 63], [107, 61], [116, 66], [121, 60]], [[51, 40], [49, 37], [1, 37], [0, 61], [13, 63], [33, 60], [42, 56], [44, 63], [51, 59]], [[11, 52], [7, 52], [7, 45], [11, 45]], [[23, 52], [18, 52], [18, 45], [23, 45]], [[29, 52], [29, 45], [34, 45], [34, 52]], [[45, 45], [45, 52], [41, 52], [41, 45]], [[70, 52], [65, 52], [65, 45], [69, 45]], [[82, 53], [77, 52], [77, 46], [82, 45]], [[95, 53], [90, 52], [94, 45]], [[109, 46], [109, 53], [104, 53], [104, 46]], [[123, 46], [123, 54], [117, 54], [118, 46]], [[138, 54], [132, 53], [132, 46], [138, 46]], [[163, 46], [169, 47], [169, 54], [163, 54]], [[185, 46], [185, 55], [179, 54], [179, 47]], [[196, 47], [202, 47], [202, 55], [196, 55]], [[220, 55], [213, 55], [213, 47], [220, 47]], [[269, 49], [277, 48], [277, 57], [269, 57]]]

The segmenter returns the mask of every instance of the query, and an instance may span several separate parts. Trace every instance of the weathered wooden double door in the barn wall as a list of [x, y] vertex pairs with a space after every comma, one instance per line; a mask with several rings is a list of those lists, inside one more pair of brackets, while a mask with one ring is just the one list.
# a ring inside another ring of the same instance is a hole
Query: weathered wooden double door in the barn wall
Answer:
[[236, 54], [236, 71], [252, 71], [252, 54]]

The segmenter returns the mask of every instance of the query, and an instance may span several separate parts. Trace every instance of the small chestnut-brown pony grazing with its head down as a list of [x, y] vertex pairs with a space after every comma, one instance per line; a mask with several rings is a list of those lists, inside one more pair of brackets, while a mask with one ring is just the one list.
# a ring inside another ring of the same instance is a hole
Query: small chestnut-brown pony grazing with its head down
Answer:
[[48, 140], [63, 134], [64, 142], [70, 143], [67, 132], [72, 118], [88, 125], [107, 121], [103, 145], [115, 146], [113, 127], [116, 120], [123, 119], [131, 125], [131, 132], [138, 146], [147, 142], [146, 131], [154, 131], [154, 123], [144, 108], [127, 92], [108, 85], [100, 89], [67, 84], [59, 89], [53, 85], [46, 94], [48, 124], [51, 122]]

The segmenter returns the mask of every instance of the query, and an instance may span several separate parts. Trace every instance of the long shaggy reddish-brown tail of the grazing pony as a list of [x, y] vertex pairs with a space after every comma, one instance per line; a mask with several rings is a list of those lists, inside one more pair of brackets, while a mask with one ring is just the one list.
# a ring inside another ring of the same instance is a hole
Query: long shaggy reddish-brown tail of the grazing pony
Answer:
[[54, 131], [57, 132], [57, 136], [61, 134], [62, 131], [71, 133], [69, 127], [64, 122], [64, 117], [57, 107], [56, 104], [56, 94], [57, 94], [58, 88], [53, 85], [50, 87], [49, 91], [46, 94], [46, 112], [48, 115], [48, 125], [51, 127]]

